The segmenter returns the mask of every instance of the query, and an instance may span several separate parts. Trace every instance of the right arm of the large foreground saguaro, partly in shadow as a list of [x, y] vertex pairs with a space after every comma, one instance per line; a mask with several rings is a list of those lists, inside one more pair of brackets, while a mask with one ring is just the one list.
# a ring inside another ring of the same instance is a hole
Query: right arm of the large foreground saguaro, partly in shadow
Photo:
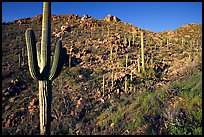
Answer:
[[65, 54], [66, 54], [66, 49], [62, 48], [62, 42], [61, 40], [58, 40], [55, 47], [53, 64], [52, 64], [50, 76], [49, 76], [50, 81], [53, 81], [55, 78], [59, 76], [64, 64]]

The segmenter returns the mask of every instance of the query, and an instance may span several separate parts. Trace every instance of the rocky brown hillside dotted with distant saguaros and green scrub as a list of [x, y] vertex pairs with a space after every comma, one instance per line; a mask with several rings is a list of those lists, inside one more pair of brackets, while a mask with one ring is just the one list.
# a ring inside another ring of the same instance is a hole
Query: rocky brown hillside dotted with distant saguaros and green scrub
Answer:
[[[24, 33], [31, 27], [40, 41], [41, 23], [42, 15], [2, 23], [3, 134], [39, 134], [38, 82], [29, 74]], [[59, 38], [67, 49], [53, 81], [51, 134], [202, 134], [202, 25], [154, 33], [110, 14], [65, 14], [52, 15], [51, 29], [52, 49]], [[197, 84], [185, 85], [190, 80]]]

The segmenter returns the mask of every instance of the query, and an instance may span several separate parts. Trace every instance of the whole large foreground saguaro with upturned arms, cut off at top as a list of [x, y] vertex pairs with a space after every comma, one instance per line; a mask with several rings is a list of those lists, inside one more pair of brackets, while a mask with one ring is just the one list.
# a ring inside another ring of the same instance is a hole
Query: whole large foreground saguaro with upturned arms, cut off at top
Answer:
[[52, 81], [57, 78], [63, 67], [66, 49], [62, 48], [58, 40], [52, 66], [51, 63], [51, 3], [43, 3], [42, 39], [41, 43], [35, 41], [32, 28], [25, 32], [28, 66], [32, 78], [39, 81], [40, 106], [40, 134], [50, 134]]

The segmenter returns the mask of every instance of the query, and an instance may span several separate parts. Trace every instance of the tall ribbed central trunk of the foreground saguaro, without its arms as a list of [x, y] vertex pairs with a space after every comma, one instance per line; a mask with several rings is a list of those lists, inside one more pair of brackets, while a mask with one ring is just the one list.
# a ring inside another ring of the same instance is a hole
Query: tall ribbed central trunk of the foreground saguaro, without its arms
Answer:
[[50, 70], [50, 30], [51, 30], [51, 3], [43, 4], [43, 21], [42, 21], [42, 48], [40, 73], [42, 80], [39, 81], [39, 105], [40, 105], [40, 134], [50, 134], [51, 121], [51, 99], [52, 88], [51, 81], [48, 79]]

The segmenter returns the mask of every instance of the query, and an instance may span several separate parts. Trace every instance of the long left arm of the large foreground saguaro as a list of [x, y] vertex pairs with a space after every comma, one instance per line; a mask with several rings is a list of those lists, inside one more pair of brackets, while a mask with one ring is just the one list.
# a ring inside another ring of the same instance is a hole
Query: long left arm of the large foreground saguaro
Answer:
[[37, 63], [37, 53], [36, 53], [36, 42], [35, 42], [35, 34], [31, 28], [27, 29], [25, 32], [26, 36], [26, 45], [28, 52], [28, 66], [31, 77], [33, 79], [41, 79], [41, 74], [38, 69]]

